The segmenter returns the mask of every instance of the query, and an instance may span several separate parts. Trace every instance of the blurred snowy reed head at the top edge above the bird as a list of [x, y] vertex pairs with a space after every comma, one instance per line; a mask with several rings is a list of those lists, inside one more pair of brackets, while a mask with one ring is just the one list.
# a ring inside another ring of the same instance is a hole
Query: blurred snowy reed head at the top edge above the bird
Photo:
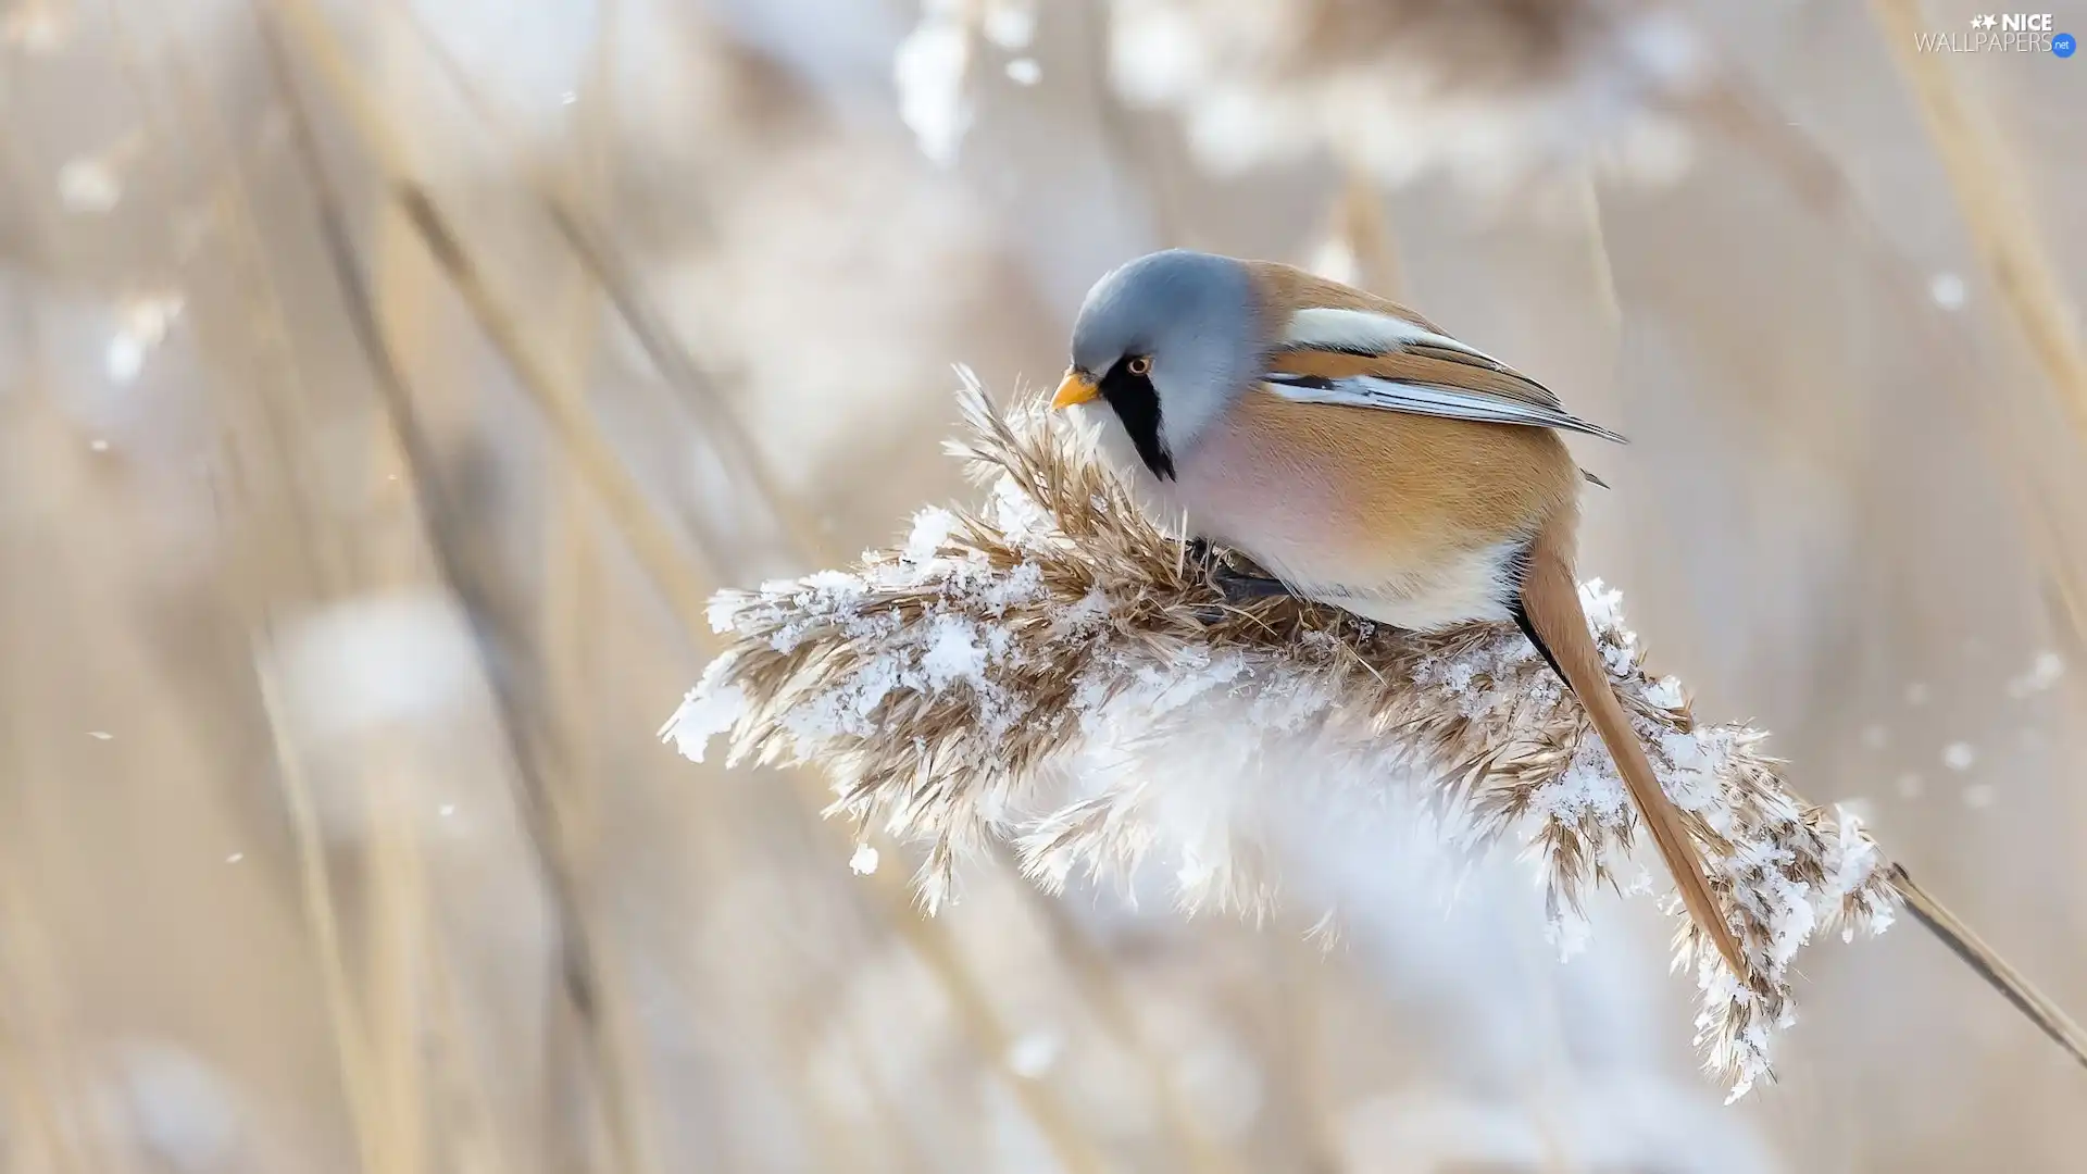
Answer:
[[1114, 0], [1133, 102], [1179, 111], [1198, 155], [1246, 167], [1332, 148], [1380, 180], [1505, 188], [1586, 161], [1686, 161], [1674, 113], [1705, 73], [1645, 0]]

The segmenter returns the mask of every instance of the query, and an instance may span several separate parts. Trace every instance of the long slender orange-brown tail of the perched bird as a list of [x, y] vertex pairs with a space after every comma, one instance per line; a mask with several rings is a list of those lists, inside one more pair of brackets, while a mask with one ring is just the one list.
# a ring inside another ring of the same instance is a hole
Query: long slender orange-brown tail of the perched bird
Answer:
[[1526, 574], [1521, 579], [1521, 612], [1515, 616], [1530, 643], [1544, 654], [1544, 660], [1565, 679], [1586, 717], [1594, 721], [1594, 731], [1615, 758], [1615, 769], [1630, 788], [1630, 798], [1638, 806], [1638, 817], [1659, 844], [1659, 856], [1674, 873], [1674, 886], [1695, 917], [1697, 928], [1709, 936], [1732, 973], [1747, 982], [1753, 971], [1747, 967], [1732, 930], [1724, 923], [1724, 913], [1709, 892], [1703, 875], [1703, 856], [1697, 854], [1695, 840], [1682, 827], [1680, 813], [1668, 794], [1659, 790], [1653, 762], [1638, 744], [1636, 729], [1624, 712], [1624, 702], [1609, 685], [1609, 671], [1594, 650], [1594, 635], [1586, 627], [1586, 612], [1580, 610], [1580, 585], [1572, 574], [1572, 560], [1561, 551], [1555, 533], [1536, 539], [1530, 549]]

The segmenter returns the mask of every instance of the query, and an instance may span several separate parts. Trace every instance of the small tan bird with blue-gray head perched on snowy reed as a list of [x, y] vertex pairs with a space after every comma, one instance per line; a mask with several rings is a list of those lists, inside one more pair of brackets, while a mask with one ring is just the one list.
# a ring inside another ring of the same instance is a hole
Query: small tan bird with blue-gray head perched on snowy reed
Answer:
[[[1137, 501], [1229, 597], [1296, 595], [1409, 631], [1515, 623], [1586, 710], [1682, 902], [1741, 982], [1574, 574], [1582, 472], [1561, 432], [1624, 437], [1413, 309], [1277, 261], [1169, 249], [1102, 276], [1052, 409], [1087, 416]], [[1588, 478], [1592, 480], [1592, 478]]]

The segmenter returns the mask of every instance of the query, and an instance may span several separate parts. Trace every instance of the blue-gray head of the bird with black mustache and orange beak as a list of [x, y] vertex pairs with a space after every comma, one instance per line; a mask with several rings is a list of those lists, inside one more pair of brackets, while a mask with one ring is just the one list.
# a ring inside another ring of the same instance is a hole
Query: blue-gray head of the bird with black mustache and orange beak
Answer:
[[1261, 299], [1231, 257], [1148, 253], [1087, 290], [1054, 405], [1104, 399], [1158, 476], [1261, 374]]

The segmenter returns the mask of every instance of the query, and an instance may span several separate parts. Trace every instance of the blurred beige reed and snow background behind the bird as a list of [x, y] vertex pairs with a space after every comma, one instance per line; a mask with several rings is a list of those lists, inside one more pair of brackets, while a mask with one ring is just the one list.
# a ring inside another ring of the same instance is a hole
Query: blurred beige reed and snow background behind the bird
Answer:
[[1513, 863], [925, 921], [655, 739], [707, 591], [964, 491], [952, 361], [1313, 263], [1632, 435], [1655, 662], [2087, 1005], [2087, 67], [1912, 52], [1976, 13], [0, 0], [0, 1166], [2079, 1170], [1910, 923], [1720, 1107], [1657, 917], [1559, 967]]

